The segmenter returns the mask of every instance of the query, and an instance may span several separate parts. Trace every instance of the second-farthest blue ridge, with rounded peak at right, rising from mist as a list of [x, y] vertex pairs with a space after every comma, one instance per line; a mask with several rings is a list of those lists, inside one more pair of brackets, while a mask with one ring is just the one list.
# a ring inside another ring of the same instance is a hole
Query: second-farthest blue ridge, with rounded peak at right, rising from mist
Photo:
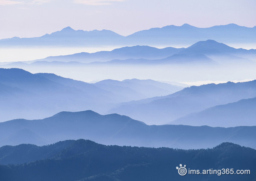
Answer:
[[[132, 46], [112, 51], [47, 57], [28, 62], [13, 62], [7, 66], [87, 66], [90, 65], [255, 65], [256, 50], [233, 48], [215, 40], [196, 42], [188, 48], [154, 48], [150, 46]], [[104, 63], [102, 63], [104, 62]], [[29, 65], [28, 65], [29, 64]], [[4, 65], [2, 65], [4, 66]]]

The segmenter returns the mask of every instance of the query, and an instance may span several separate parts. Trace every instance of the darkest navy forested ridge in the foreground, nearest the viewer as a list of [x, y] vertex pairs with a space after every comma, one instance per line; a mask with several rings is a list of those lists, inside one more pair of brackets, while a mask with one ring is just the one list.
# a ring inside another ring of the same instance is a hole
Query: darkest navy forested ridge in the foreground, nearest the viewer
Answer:
[[[93, 141], [67, 140], [38, 147], [32, 144], [0, 148], [1, 181], [252, 181], [256, 150], [222, 143], [212, 149], [105, 146]], [[9, 165], [8, 165], [9, 164]], [[250, 175], [180, 176], [176, 167], [207, 170], [233, 168]]]

